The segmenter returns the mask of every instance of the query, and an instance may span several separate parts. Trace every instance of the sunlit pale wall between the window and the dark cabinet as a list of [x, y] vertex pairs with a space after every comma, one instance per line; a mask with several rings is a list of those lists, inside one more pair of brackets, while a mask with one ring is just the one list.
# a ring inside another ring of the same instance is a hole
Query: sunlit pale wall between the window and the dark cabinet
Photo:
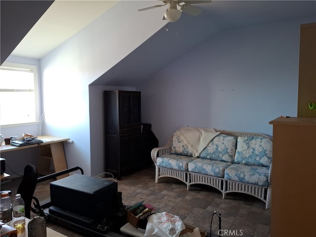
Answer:
[[[145, 21], [148, 15], [137, 11], [142, 7], [146, 7], [146, 2], [119, 1], [40, 60], [45, 113], [43, 131], [74, 140], [74, 143], [64, 144], [67, 165], [80, 166], [87, 175], [104, 169], [101, 166], [103, 148], [90, 147], [90, 137], [99, 137], [100, 122], [90, 120], [89, 110], [94, 108], [89, 107], [94, 104], [89, 100], [94, 94], [89, 97], [88, 85], [162, 27], [163, 22], [155, 21], [155, 16], [152, 23]], [[151, 14], [158, 17], [160, 12]], [[102, 98], [100, 93], [96, 96]], [[90, 123], [97, 127], [92, 133]], [[92, 148], [97, 151], [91, 152]], [[94, 162], [91, 153], [99, 159], [93, 165], [95, 170], [91, 169], [92, 160]]]

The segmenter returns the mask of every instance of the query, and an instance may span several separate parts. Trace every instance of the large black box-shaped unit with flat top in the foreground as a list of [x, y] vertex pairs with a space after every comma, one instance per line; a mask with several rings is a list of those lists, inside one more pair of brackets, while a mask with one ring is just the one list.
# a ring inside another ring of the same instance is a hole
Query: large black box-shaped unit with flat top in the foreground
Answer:
[[89, 234], [108, 236], [126, 223], [118, 183], [81, 174], [50, 183], [48, 218]]

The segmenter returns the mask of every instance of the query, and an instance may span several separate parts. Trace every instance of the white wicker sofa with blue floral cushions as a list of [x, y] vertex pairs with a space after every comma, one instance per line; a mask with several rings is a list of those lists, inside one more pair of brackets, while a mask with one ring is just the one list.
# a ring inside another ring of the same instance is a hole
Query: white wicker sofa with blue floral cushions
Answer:
[[[197, 155], [190, 141], [179, 137], [179, 131], [182, 134], [187, 128], [177, 130], [164, 147], [152, 150], [156, 183], [161, 177], [173, 177], [187, 184], [188, 190], [194, 184], [209, 185], [218, 189], [223, 198], [227, 193], [245, 193], [263, 200], [266, 209], [271, 208], [271, 137], [213, 129], [215, 136]], [[197, 133], [205, 129], [197, 128]], [[195, 135], [199, 138], [201, 134]]]

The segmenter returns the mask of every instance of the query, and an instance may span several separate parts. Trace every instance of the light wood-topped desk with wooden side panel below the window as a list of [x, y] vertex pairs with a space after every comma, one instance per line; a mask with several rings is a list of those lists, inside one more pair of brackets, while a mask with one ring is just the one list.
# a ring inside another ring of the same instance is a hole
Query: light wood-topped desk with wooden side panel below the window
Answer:
[[[22, 149], [28, 149], [31, 147], [39, 147], [40, 158], [53, 159], [55, 172], [67, 169], [63, 142], [68, 141], [69, 138], [43, 135], [43, 136], [38, 136], [38, 139], [43, 140], [44, 142], [39, 143], [39, 144], [22, 146], [22, 147], [4, 145], [4, 142], [3, 142], [2, 145], [0, 146], [0, 153], [13, 152], [13, 151], [22, 150]], [[58, 179], [64, 178], [67, 176], [68, 174], [65, 174], [63, 176], [59, 176]]]

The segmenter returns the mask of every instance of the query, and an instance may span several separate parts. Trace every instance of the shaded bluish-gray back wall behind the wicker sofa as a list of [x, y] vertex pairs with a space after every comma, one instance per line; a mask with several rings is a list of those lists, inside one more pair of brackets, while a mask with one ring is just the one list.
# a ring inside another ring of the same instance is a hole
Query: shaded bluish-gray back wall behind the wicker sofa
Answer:
[[220, 32], [159, 72], [142, 91], [142, 121], [164, 145], [179, 127], [272, 135], [296, 117], [300, 24], [291, 20]]

